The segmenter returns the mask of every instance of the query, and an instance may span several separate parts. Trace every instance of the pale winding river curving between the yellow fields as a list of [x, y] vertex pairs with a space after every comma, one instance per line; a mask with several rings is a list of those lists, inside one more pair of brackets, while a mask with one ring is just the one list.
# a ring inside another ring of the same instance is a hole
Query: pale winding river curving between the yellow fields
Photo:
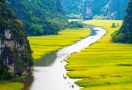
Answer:
[[66, 75], [64, 60], [72, 53], [79, 52], [96, 42], [106, 33], [106, 30], [99, 27], [90, 25], [87, 27], [92, 30], [89, 37], [46, 55], [38, 63], [35, 63], [33, 72], [24, 82], [23, 90], [79, 90], [81, 87], [74, 84], [76, 79], [70, 79]]

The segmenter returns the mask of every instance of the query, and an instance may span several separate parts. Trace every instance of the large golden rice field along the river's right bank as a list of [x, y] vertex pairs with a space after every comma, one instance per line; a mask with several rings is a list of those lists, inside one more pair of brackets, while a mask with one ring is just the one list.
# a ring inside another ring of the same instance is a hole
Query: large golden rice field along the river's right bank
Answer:
[[132, 90], [132, 44], [112, 43], [112, 23], [122, 21], [85, 21], [107, 29], [107, 34], [90, 47], [67, 60], [66, 69], [81, 90]]

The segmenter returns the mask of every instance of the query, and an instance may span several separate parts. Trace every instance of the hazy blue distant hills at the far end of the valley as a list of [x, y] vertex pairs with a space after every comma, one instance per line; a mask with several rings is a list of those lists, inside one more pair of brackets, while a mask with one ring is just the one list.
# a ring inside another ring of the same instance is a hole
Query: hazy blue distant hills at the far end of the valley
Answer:
[[129, 0], [61, 0], [68, 18], [123, 19]]

